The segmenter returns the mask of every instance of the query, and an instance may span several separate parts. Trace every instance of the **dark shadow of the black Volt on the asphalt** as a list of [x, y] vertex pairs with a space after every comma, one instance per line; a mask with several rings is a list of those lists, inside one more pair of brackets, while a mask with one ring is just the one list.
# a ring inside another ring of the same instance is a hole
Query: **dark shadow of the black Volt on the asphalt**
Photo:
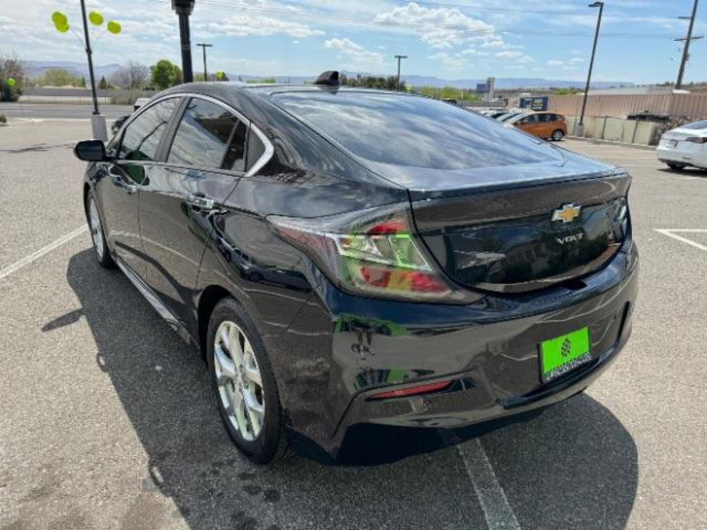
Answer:
[[[86, 318], [98, 369], [110, 377], [148, 455], [143, 483], [121, 492], [134, 493], [123, 527], [166, 517], [160, 512], [173, 510], [167, 500], [192, 529], [486, 527], [457, 448], [420, 444], [437, 450], [416, 454], [408, 432], [372, 431], [361, 441], [371, 454], [387, 447], [388, 456], [375, 466], [325, 466], [304, 457], [250, 464], [220, 423], [201, 356], [127, 278], [100, 269], [92, 249], [71, 257], [66, 276], [81, 309], [42, 329]], [[625, 526], [636, 496], [636, 445], [589, 396], [495, 430], [481, 442], [522, 528]], [[395, 447], [404, 449], [396, 455]]]

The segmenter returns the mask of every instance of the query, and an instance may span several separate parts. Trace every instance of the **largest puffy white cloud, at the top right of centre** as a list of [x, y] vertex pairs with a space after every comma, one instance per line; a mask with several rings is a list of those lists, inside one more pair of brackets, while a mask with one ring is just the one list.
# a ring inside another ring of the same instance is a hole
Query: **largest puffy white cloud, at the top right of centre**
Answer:
[[470, 18], [457, 8], [426, 8], [414, 2], [379, 13], [373, 22], [394, 28], [409, 28], [433, 48], [451, 48], [468, 40], [491, 36], [493, 40], [500, 39], [494, 35], [492, 25]]

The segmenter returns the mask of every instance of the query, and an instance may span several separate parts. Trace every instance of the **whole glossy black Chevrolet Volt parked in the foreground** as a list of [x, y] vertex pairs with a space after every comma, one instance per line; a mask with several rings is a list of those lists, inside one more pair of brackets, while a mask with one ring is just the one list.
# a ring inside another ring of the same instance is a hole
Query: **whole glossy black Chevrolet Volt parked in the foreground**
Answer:
[[192, 83], [74, 152], [98, 262], [204, 355], [259, 463], [522, 417], [631, 333], [629, 175], [454, 105]]

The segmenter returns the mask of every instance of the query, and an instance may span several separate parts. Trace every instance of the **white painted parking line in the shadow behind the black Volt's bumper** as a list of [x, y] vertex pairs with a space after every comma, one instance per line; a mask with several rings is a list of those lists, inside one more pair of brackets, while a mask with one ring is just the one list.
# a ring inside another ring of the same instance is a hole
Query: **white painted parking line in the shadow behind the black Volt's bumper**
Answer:
[[506, 493], [493, 472], [489, 457], [478, 438], [457, 445], [464, 467], [479, 498], [489, 530], [520, 530]]

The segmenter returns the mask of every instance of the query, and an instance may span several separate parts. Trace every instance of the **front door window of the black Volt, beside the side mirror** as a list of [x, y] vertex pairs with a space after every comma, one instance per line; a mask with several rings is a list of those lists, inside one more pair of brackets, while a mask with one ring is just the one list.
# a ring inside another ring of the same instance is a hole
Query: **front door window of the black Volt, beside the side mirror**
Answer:
[[169, 98], [149, 107], [129, 124], [120, 143], [119, 158], [155, 160], [162, 135], [177, 108], [179, 98]]

